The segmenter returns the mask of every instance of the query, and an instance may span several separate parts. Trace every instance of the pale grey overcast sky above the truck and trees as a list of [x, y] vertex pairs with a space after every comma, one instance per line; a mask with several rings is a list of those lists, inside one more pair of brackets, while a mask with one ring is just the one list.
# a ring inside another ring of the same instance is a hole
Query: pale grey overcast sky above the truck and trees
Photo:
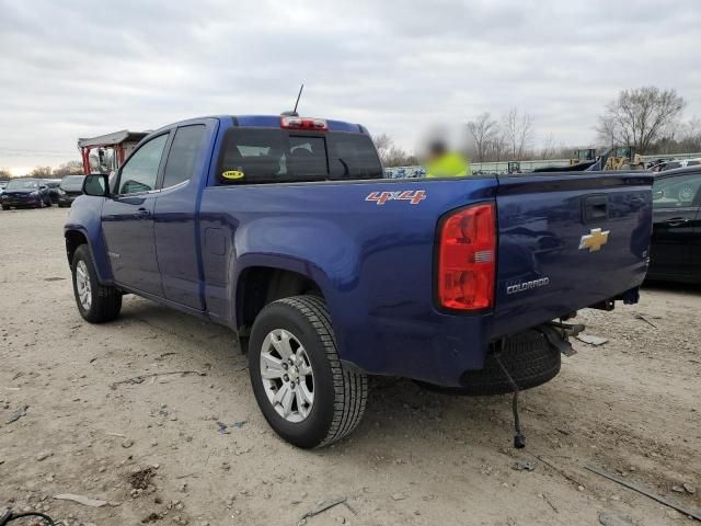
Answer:
[[588, 145], [619, 90], [701, 116], [701, 0], [0, 0], [0, 168], [79, 159], [78, 137], [209, 114], [427, 124], [512, 106]]

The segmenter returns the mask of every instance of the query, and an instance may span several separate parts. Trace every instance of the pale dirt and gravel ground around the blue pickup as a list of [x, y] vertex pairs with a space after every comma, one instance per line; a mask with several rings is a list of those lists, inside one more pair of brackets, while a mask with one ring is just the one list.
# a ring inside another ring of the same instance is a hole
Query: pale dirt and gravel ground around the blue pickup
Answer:
[[[575, 342], [560, 376], [525, 393], [524, 450], [509, 397], [384, 378], [349, 438], [303, 451], [268, 428], [228, 330], [131, 296], [116, 322], [80, 318], [67, 214], [0, 213], [0, 508], [69, 525], [294, 526], [345, 498], [307, 524], [597, 525], [602, 512], [694, 524], [584, 467], [701, 507], [701, 288], [657, 285], [637, 306], [581, 312], [609, 342]], [[197, 373], [169, 374], [183, 370]], [[65, 493], [107, 504], [54, 499]]]

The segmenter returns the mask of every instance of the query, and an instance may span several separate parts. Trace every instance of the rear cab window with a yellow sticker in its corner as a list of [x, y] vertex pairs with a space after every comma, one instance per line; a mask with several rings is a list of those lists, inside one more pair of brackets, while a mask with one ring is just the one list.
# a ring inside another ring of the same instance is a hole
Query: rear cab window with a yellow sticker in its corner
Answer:
[[369, 136], [348, 132], [231, 128], [219, 156], [218, 184], [382, 179]]

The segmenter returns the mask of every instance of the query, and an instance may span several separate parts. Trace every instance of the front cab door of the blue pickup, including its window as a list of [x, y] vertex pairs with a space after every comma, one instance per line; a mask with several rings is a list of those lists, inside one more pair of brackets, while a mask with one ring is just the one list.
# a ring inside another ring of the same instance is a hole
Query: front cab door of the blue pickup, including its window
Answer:
[[114, 279], [163, 296], [156, 254], [153, 209], [169, 133], [141, 145], [117, 174], [116, 193], [102, 208], [102, 228]]

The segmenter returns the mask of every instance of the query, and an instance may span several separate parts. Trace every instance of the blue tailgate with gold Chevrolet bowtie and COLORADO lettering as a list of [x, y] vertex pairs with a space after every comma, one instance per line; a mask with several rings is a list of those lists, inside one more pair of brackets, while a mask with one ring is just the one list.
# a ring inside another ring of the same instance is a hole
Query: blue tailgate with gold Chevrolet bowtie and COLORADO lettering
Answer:
[[639, 286], [647, 272], [653, 175], [506, 175], [497, 193], [493, 336]]

